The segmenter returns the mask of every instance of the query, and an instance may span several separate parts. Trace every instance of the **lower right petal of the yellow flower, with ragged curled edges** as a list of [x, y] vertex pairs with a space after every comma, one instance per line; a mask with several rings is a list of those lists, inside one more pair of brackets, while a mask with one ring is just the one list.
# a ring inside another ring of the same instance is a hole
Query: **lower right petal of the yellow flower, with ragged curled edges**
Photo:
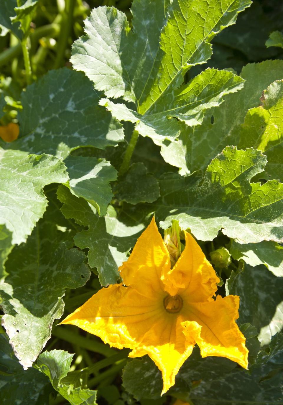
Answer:
[[[202, 357], [220, 356], [248, 367], [248, 350], [245, 337], [240, 332], [235, 320], [238, 318], [239, 297], [229, 295], [225, 298], [217, 296], [216, 301], [193, 303], [184, 308], [186, 318], [201, 326], [194, 336], [200, 347]], [[185, 335], [192, 336], [192, 323], [184, 322]]]

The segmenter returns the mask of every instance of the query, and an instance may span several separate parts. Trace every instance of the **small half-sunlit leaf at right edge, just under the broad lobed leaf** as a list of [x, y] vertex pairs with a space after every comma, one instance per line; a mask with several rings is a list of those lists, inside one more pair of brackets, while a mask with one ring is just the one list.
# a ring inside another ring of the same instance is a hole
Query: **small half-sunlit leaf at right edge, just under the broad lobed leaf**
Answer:
[[241, 245], [233, 241], [230, 253], [234, 259], [243, 260], [250, 266], [264, 264], [275, 276], [283, 277], [283, 247], [276, 242]]

